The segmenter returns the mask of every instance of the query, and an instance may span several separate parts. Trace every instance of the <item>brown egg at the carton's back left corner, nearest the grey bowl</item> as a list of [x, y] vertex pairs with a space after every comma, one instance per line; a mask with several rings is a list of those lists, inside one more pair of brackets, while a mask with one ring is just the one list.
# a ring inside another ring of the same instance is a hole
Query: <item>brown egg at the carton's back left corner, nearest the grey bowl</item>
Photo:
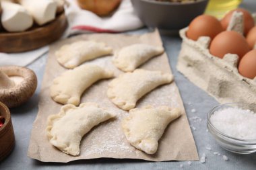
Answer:
[[189, 24], [187, 38], [197, 40], [200, 36], [214, 37], [224, 31], [219, 20], [210, 15], [199, 15]]

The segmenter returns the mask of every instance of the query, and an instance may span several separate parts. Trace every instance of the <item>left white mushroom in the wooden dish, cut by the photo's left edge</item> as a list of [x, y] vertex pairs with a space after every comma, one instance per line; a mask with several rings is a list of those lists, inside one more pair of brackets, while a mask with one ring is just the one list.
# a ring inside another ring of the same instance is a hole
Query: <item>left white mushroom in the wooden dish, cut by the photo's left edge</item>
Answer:
[[22, 5], [1, 1], [1, 23], [8, 32], [23, 32], [33, 25], [32, 16]]

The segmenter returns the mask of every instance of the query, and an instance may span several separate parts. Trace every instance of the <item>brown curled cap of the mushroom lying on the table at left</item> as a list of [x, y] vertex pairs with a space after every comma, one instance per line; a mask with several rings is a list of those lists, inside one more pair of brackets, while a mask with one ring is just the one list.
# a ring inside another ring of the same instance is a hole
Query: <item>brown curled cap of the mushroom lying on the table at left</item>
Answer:
[[14, 87], [0, 89], [0, 101], [5, 103], [8, 108], [13, 108], [28, 101], [34, 94], [37, 87], [37, 78], [34, 71], [26, 67], [6, 66], [0, 67], [8, 77], [23, 77], [23, 81]]

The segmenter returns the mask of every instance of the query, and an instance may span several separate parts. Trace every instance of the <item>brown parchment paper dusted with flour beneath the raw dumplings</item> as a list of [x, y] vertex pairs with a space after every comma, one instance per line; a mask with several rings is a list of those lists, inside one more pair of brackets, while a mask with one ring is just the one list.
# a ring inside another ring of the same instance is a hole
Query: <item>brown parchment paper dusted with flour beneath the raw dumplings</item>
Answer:
[[[162, 85], [151, 93], [148, 93], [148, 95], [142, 97], [136, 105], [136, 108], [141, 108], [144, 105], [150, 104], [154, 106], [169, 105], [170, 107], [179, 107], [182, 109], [182, 116], [174, 122], [171, 122], [166, 128], [159, 141], [159, 147], [156, 154], [147, 155], [127, 142], [121, 129], [121, 120], [125, 116], [128, 116], [129, 113], [117, 108], [117, 106], [115, 106], [106, 96], [107, 85], [111, 80], [98, 81], [92, 85], [92, 87], [87, 89], [82, 95], [82, 102], [96, 102], [102, 108], [108, 108], [109, 112], [116, 113], [117, 118], [96, 126], [86, 134], [84, 138], [82, 138], [80, 155], [78, 157], [62, 153], [52, 146], [46, 137], [46, 120], [50, 114], [59, 113], [62, 105], [55, 103], [55, 101], [51, 99], [49, 87], [55, 77], [66, 71], [66, 69], [58, 64], [54, 53], [63, 44], [70, 44], [77, 40], [96, 40], [98, 42], [105, 42], [115, 50], [119, 50], [123, 46], [135, 43], [162, 45], [158, 31], [140, 36], [125, 34], [86, 34], [53, 44], [49, 51], [49, 57], [42, 82], [38, 116], [34, 121], [30, 138], [30, 146], [28, 148], [29, 157], [44, 162], [69, 162], [78, 159], [95, 159], [102, 157], [144, 159], [148, 161], [198, 160], [197, 148], [185, 114], [183, 101], [174, 82], [169, 85]], [[86, 62], [86, 65], [87, 64], [99, 65], [114, 71], [116, 76], [122, 73], [112, 64], [111, 56], [97, 58], [96, 60]], [[140, 68], [152, 71], [159, 70], [164, 73], [171, 72], [166, 53], [152, 58]]]

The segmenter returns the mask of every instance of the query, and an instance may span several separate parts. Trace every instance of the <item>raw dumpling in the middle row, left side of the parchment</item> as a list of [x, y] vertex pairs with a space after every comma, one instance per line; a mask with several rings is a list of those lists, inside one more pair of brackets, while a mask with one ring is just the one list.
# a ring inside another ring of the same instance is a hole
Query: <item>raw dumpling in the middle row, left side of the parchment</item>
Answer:
[[64, 72], [53, 80], [51, 97], [62, 104], [79, 105], [84, 91], [100, 79], [113, 77], [113, 72], [105, 71], [96, 65], [82, 65]]

